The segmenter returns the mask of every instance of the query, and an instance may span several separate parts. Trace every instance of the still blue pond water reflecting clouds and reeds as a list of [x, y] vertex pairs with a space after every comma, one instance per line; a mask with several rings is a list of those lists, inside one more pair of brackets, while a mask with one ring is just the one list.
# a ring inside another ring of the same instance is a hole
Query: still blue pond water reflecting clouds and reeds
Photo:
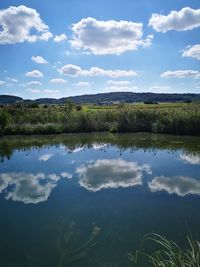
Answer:
[[131, 267], [156, 232], [200, 235], [200, 138], [0, 139], [0, 266]]

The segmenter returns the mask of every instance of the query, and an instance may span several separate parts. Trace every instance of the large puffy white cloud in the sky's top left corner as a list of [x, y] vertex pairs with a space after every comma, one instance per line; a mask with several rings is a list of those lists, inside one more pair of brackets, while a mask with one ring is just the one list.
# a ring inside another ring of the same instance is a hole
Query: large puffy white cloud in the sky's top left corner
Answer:
[[23, 5], [0, 10], [0, 29], [0, 44], [48, 41], [52, 37], [39, 13]]

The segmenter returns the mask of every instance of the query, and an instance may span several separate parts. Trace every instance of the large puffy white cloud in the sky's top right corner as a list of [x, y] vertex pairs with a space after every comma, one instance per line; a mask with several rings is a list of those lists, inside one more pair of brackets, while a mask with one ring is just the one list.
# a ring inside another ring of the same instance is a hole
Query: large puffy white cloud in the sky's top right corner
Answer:
[[149, 20], [149, 26], [163, 33], [171, 30], [192, 30], [200, 27], [200, 9], [184, 7], [180, 11], [171, 11], [167, 16], [153, 14]]

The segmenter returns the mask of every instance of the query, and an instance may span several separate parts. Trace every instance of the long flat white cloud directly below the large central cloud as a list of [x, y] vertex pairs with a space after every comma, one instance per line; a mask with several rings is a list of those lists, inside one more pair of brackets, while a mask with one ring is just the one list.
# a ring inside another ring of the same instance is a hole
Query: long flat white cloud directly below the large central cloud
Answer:
[[58, 69], [61, 74], [71, 76], [108, 76], [112, 78], [132, 77], [138, 74], [132, 70], [104, 70], [98, 67], [91, 67], [89, 70], [81, 69], [79, 66], [68, 64]]

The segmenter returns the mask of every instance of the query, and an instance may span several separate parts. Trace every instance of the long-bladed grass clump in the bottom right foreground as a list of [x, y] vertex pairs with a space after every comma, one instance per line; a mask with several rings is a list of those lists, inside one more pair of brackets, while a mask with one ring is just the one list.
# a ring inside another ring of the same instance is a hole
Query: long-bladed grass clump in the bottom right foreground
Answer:
[[200, 242], [189, 236], [185, 249], [155, 233], [145, 236], [142, 246], [145, 245], [146, 249], [143, 248], [143, 251], [130, 254], [134, 266], [142, 260], [144, 266], [148, 267], [200, 267]]

